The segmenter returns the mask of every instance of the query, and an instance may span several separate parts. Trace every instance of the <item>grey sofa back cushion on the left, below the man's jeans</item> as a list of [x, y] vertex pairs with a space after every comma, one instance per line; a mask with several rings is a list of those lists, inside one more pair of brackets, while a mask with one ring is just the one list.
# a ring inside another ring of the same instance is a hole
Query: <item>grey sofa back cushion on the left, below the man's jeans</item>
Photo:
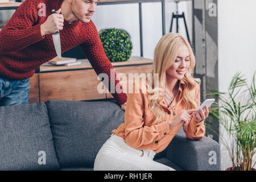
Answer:
[[1, 170], [59, 169], [43, 103], [0, 107], [0, 138]]

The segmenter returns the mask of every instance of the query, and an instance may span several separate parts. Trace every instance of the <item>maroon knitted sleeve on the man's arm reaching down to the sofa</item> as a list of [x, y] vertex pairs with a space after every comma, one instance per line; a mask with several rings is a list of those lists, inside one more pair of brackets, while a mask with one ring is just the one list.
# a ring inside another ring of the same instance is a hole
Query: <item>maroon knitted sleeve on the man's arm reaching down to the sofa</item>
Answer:
[[[97, 28], [94, 26], [92, 20], [86, 24], [86, 28], [88, 28], [88, 34], [86, 42], [81, 44], [82, 51], [84, 51], [97, 75], [101, 78], [102, 76], [100, 74], [105, 73], [103, 75], [108, 77], [108, 84], [106, 85], [106, 82], [104, 84], [108, 87], [110, 93], [112, 93], [115, 101], [119, 105], [125, 104], [127, 96], [123, 93], [122, 86], [115, 74], [113, 65], [106, 56]], [[105, 76], [103, 77], [105, 78]]]

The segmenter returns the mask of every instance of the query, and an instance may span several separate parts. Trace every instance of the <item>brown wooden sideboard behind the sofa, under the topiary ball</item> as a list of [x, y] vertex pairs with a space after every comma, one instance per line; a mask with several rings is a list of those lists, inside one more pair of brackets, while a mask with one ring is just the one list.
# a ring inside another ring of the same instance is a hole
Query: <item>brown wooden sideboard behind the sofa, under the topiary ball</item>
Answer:
[[[48, 100], [98, 100], [112, 98], [110, 93], [98, 93], [100, 80], [88, 60], [73, 67], [56, 67], [42, 65], [40, 73], [30, 80], [29, 103]], [[131, 57], [128, 61], [112, 63], [115, 73], [147, 73], [152, 68], [152, 60], [142, 57]], [[121, 80], [122, 85], [129, 85], [127, 80]]]

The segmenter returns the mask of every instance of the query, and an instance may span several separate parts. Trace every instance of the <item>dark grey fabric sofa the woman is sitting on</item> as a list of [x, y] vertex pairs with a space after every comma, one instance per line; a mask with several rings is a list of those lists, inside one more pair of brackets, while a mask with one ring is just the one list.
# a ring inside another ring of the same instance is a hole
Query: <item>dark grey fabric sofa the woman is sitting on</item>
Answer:
[[[123, 120], [111, 100], [0, 107], [0, 169], [93, 170], [98, 150]], [[154, 160], [176, 170], [220, 170], [220, 146], [207, 137], [189, 140], [181, 128]]]

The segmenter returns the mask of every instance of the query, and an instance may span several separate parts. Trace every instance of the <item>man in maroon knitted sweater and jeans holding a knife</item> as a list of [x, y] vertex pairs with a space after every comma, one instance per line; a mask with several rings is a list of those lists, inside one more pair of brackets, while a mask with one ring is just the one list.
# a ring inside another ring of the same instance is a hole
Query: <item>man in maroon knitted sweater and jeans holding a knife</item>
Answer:
[[56, 57], [52, 34], [59, 30], [61, 51], [80, 45], [97, 75], [108, 75], [109, 90], [119, 88], [112, 94], [125, 109], [127, 96], [116, 75], [110, 75], [113, 66], [90, 20], [98, 1], [26, 0], [19, 6], [0, 32], [0, 106], [27, 104], [30, 77]]

